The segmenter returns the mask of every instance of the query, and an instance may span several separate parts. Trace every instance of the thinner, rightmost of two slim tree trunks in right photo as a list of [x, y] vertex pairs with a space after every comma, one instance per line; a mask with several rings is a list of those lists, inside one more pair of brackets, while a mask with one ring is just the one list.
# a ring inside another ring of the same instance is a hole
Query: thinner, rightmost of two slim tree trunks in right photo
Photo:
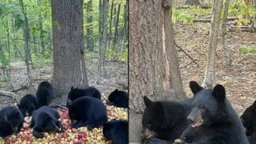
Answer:
[[222, 20], [222, 48], [224, 52], [224, 58], [227, 66], [232, 65], [232, 58], [230, 55], [230, 50], [228, 50], [227, 44], [226, 44], [226, 22], [227, 22], [227, 16], [228, 16], [228, 10], [229, 10], [230, 0], [226, 0], [224, 2], [224, 13], [223, 13], [223, 20]]

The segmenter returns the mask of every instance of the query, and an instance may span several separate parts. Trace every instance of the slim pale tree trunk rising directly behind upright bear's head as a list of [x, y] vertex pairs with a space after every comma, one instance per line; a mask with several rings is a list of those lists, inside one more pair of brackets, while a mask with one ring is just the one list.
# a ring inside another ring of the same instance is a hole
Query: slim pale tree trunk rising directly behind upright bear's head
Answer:
[[215, 85], [215, 53], [217, 49], [218, 42], [218, 26], [220, 22], [220, 16], [222, 12], [223, 0], [214, 1], [213, 17], [210, 24], [210, 41], [209, 50], [207, 52], [206, 59], [206, 72], [205, 78], [202, 82], [202, 86], [206, 88], [213, 88]]

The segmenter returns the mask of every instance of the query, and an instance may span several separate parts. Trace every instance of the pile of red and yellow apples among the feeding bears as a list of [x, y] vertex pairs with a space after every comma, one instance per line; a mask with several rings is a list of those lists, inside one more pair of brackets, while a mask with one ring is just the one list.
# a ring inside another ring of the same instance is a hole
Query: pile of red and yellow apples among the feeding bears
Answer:
[[[123, 108], [118, 108], [115, 106], [106, 106], [107, 114], [109, 120], [111, 119], [128, 119], [128, 110]], [[86, 127], [80, 127], [78, 129], [72, 129], [70, 124], [71, 121], [69, 119], [68, 110], [60, 110], [60, 121], [64, 127], [64, 133], [55, 133], [49, 132], [44, 133], [43, 138], [34, 138], [32, 135], [32, 129], [29, 128], [30, 118], [26, 118], [23, 123], [22, 130], [19, 134], [13, 134], [6, 138], [0, 138], [0, 144], [14, 144], [14, 143], [49, 143], [49, 144], [82, 144], [82, 143], [90, 143], [90, 144], [110, 144], [110, 141], [107, 141], [104, 138], [102, 133], [102, 127], [95, 128], [94, 130], [87, 130]]]

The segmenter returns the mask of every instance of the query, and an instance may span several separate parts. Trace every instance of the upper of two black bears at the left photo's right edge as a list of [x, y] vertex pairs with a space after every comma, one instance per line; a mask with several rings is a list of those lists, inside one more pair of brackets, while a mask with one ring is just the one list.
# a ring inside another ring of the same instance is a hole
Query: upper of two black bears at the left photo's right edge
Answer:
[[128, 108], [129, 97], [125, 91], [116, 89], [110, 94], [108, 99], [109, 102], [107, 104], [109, 105]]

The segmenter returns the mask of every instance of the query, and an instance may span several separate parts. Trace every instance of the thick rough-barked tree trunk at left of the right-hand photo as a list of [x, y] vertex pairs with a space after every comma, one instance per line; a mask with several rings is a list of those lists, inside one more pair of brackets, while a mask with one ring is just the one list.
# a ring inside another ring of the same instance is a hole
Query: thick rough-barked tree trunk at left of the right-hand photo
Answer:
[[171, 27], [171, 1], [137, 0], [129, 6], [129, 138], [139, 142], [145, 108], [142, 96], [177, 100], [184, 93]]

